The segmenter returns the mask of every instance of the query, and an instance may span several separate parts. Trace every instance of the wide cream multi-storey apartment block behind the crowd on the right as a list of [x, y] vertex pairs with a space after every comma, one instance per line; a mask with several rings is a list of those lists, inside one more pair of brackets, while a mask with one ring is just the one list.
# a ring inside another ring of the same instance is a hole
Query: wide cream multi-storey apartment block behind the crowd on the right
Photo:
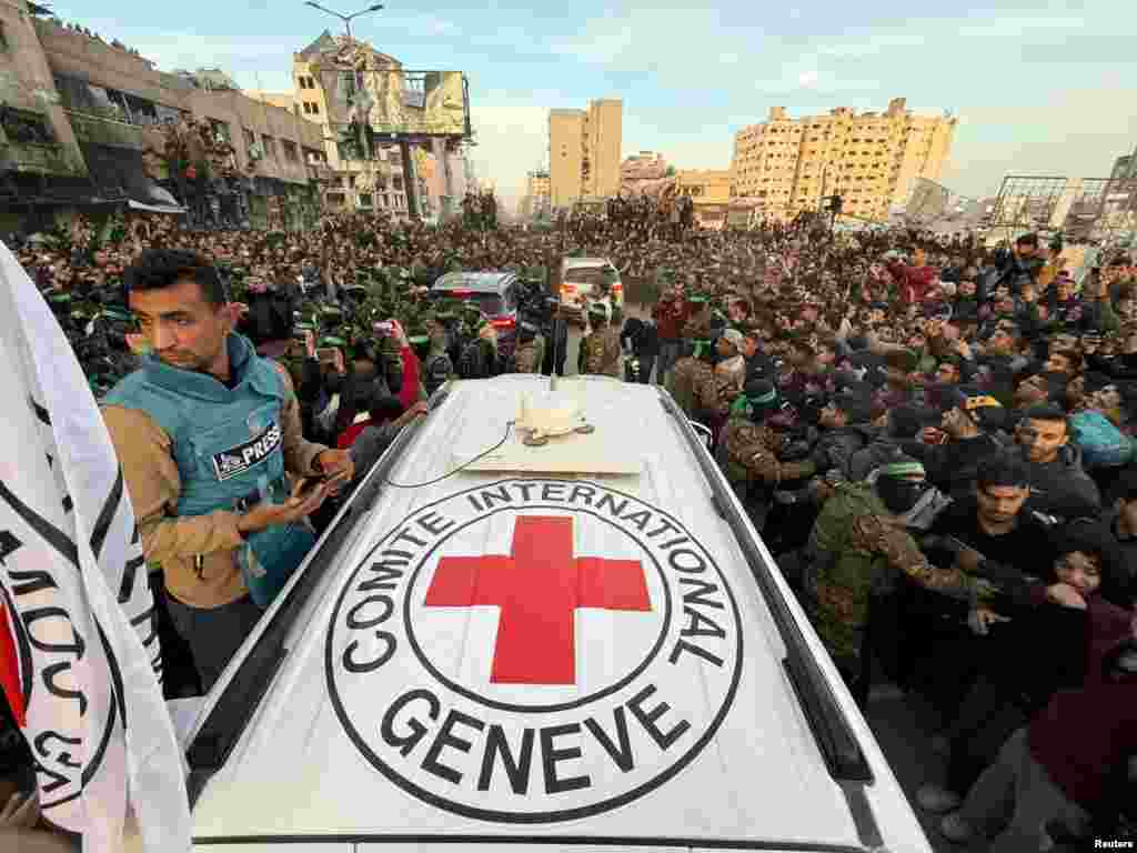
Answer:
[[755, 199], [770, 218], [815, 210], [839, 194], [843, 213], [882, 221], [918, 177], [939, 180], [956, 123], [912, 115], [904, 98], [883, 113], [838, 107], [805, 118], [773, 107], [767, 121], [735, 134], [730, 194]]

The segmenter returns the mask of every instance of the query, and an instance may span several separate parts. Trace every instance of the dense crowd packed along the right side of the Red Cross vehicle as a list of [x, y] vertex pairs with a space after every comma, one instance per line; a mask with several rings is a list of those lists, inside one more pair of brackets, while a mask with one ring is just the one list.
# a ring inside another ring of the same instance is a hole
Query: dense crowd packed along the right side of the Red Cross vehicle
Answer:
[[879, 669], [935, 706], [919, 805], [999, 851], [1131, 838], [1132, 260], [1079, 285], [1035, 234], [766, 248], [754, 292], [671, 287], [656, 368], [858, 703]]

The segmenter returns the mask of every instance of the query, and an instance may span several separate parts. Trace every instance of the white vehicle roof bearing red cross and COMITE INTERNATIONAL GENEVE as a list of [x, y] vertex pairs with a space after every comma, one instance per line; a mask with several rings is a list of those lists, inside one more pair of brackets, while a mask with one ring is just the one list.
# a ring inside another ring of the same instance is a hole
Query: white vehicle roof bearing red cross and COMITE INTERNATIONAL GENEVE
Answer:
[[[207, 699], [198, 846], [929, 851], [671, 398], [548, 384], [453, 382], [372, 470]], [[523, 445], [523, 395], [592, 431]]]

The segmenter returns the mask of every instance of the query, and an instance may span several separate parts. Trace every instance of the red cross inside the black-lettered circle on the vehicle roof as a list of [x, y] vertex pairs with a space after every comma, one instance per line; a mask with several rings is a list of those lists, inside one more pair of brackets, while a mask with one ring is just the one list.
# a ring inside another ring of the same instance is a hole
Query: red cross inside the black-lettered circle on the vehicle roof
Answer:
[[439, 560], [428, 607], [501, 608], [491, 682], [575, 684], [579, 607], [652, 610], [640, 561], [574, 557], [572, 524], [522, 515], [512, 554]]

